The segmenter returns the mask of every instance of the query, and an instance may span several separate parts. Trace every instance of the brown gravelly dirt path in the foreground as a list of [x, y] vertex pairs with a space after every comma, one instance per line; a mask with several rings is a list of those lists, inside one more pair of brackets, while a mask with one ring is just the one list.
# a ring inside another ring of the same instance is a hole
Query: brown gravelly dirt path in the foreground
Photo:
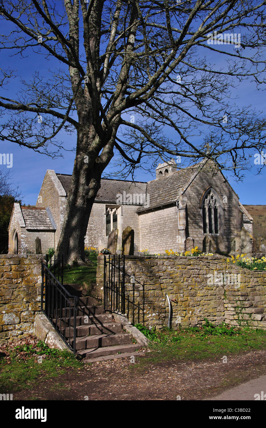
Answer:
[[[145, 358], [145, 357], [137, 357]], [[266, 350], [223, 359], [171, 361], [137, 367], [130, 359], [92, 363], [45, 380], [13, 400], [202, 400], [266, 375]]]

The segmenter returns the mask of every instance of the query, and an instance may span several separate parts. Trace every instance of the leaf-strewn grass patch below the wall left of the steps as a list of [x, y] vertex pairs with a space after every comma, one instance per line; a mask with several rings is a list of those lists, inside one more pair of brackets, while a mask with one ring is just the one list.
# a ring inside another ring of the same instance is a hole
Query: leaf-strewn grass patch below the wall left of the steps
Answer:
[[[48, 347], [46, 347], [48, 348]], [[48, 348], [49, 349], [49, 348]], [[83, 363], [78, 361], [69, 351], [51, 350], [38, 363], [38, 355], [32, 351], [21, 353], [12, 351], [10, 357], [0, 358], [0, 391], [1, 393], [14, 393], [21, 389], [31, 389], [40, 381], [51, 379], [64, 374], [67, 369], [81, 369]], [[54, 352], [55, 351], [55, 352]], [[26, 354], [26, 356], [25, 356]], [[55, 381], [56, 384], [56, 381]], [[59, 388], [60, 384], [59, 385]]]

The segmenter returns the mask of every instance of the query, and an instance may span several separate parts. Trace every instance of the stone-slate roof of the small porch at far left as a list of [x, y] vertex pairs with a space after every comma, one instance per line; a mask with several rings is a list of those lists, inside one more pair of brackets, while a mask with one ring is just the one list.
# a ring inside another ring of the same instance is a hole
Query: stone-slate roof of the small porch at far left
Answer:
[[21, 207], [26, 229], [55, 230], [45, 208]]

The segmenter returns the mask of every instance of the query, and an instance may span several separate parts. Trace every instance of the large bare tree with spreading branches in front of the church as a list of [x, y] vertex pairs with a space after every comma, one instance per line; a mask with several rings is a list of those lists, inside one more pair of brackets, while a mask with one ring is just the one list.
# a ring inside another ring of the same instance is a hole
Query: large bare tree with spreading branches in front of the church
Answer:
[[[46, 76], [36, 71], [22, 81], [15, 99], [1, 94], [2, 113], [10, 117], [0, 137], [57, 156], [59, 132], [77, 134], [57, 252], [84, 259], [91, 208], [114, 154], [121, 156], [115, 162], [122, 175], [173, 156], [210, 158], [239, 175], [252, 151], [263, 150], [266, 120], [249, 107], [239, 109], [230, 89], [245, 79], [265, 83], [265, 5], [0, 0], [1, 20], [10, 23], [0, 49], [30, 50], [58, 62]], [[3, 89], [14, 75], [3, 71]]]

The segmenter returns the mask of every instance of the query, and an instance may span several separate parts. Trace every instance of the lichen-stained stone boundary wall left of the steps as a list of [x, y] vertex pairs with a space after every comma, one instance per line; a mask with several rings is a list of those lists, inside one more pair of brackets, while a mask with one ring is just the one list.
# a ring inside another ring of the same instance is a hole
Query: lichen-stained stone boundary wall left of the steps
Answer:
[[33, 333], [40, 311], [42, 255], [0, 254], [0, 343]]

